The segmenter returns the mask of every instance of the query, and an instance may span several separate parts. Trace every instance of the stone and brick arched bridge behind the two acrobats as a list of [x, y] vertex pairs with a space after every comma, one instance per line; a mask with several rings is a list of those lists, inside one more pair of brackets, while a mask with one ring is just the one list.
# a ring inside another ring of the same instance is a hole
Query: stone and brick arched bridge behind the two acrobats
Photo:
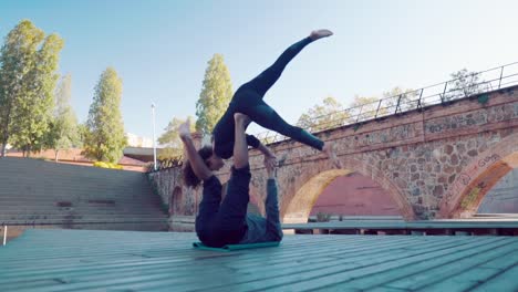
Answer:
[[[343, 169], [333, 169], [320, 153], [293, 140], [269, 145], [282, 161], [278, 169], [282, 221], [305, 222], [323, 189], [353, 173], [377, 182], [406, 220], [472, 216], [489, 189], [518, 167], [517, 88], [317, 134], [335, 142]], [[250, 201], [263, 213], [262, 156], [251, 150], [250, 160]], [[229, 168], [217, 175], [225, 181]], [[153, 173], [151, 179], [173, 217], [197, 212], [200, 190], [183, 187], [178, 168]]]

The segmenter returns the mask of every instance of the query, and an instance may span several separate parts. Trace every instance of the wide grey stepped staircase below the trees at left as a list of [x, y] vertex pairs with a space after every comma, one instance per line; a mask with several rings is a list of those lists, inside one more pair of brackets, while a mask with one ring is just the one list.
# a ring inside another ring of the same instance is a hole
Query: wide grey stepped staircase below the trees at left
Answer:
[[0, 225], [164, 231], [167, 215], [145, 174], [3, 157]]

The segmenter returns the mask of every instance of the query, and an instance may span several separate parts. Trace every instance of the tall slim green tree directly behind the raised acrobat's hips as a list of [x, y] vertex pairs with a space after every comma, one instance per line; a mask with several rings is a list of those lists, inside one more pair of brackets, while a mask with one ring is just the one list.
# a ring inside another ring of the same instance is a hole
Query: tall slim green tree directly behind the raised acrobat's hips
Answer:
[[201, 93], [196, 102], [196, 129], [209, 134], [227, 109], [232, 97], [230, 73], [220, 54], [215, 54], [208, 62]]

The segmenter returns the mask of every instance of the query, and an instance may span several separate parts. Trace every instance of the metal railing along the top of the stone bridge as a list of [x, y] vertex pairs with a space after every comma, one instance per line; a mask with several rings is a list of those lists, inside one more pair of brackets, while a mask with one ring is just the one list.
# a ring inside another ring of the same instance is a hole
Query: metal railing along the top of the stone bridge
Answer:
[[[346, 125], [360, 125], [367, 121], [422, 109], [431, 105], [448, 104], [452, 101], [480, 95], [517, 84], [518, 62], [515, 62], [478, 73], [462, 75], [454, 80], [388, 96], [372, 103], [317, 116], [310, 121], [310, 125], [305, 129], [311, 133], [318, 133]], [[256, 136], [266, 144], [290, 139], [273, 131], [262, 132]]]

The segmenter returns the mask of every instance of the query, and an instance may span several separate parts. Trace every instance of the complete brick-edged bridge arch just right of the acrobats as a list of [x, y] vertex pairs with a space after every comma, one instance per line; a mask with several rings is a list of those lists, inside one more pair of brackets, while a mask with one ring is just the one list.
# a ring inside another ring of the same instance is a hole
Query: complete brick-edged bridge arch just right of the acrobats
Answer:
[[390, 194], [406, 220], [415, 218], [412, 206], [404, 194], [377, 167], [353, 158], [342, 159], [342, 165], [344, 166], [342, 169], [332, 169], [328, 163], [323, 161], [304, 165], [304, 169], [300, 171], [301, 175], [293, 182], [292, 194], [286, 194], [282, 199], [284, 202], [283, 208], [281, 208], [282, 222], [307, 222], [311, 209], [323, 189], [336, 177], [352, 173], [373, 178]]

